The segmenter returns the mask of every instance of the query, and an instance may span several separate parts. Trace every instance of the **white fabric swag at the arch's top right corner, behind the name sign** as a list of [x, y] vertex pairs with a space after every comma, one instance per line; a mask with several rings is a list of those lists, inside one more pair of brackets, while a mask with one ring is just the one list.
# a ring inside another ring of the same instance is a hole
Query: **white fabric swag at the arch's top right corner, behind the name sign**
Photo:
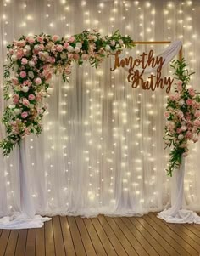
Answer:
[[[169, 65], [169, 62], [175, 58], [177, 54], [179, 54], [179, 51], [182, 47], [182, 42], [180, 40], [176, 40], [175, 42], [172, 42], [169, 44], [169, 46], [162, 52], [161, 54], [156, 54], [153, 56], [154, 58], [156, 57], [162, 57], [164, 60], [164, 65]], [[124, 67], [125, 71], [129, 71], [129, 68]], [[139, 71], [142, 69], [140, 67], [137, 68]], [[155, 72], [158, 69], [158, 65], [155, 65], [154, 68], [152, 67], [147, 67], [144, 70], [144, 74]]]

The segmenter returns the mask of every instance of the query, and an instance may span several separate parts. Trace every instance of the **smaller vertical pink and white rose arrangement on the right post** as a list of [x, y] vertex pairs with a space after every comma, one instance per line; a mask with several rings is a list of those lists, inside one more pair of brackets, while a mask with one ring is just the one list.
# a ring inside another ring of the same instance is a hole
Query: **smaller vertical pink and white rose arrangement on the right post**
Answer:
[[200, 96], [188, 86], [190, 76], [186, 69], [186, 61], [174, 60], [171, 67], [175, 70], [175, 94], [169, 95], [165, 117], [165, 144], [173, 145], [170, 151], [168, 175], [181, 165], [181, 157], [188, 155], [188, 142], [194, 143], [200, 134]]

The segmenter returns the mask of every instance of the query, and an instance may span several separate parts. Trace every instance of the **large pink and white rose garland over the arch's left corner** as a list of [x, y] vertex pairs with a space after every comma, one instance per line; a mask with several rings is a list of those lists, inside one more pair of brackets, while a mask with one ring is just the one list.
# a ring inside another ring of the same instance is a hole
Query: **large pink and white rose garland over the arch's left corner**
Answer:
[[4, 100], [8, 106], [3, 113], [7, 137], [0, 142], [6, 156], [25, 136], [42, 132], [42, 117], [47, 109], [43, 99], [49, 94], [53, 73], [68, 81], [71, 65], [83, 61], [97, 68], [108, 53], [132, 48], [131, 37], [115, 31], [102, 37], [97, 31], [83, 31], [72, 37], [41, 34], [22, 36], [8, 45], [8, 64], [4, 65]]

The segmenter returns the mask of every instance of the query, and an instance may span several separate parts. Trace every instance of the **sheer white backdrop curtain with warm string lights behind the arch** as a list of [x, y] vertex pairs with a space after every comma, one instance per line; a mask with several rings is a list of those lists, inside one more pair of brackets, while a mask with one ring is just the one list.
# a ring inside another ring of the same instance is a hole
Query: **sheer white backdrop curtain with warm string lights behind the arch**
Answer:
[[[136, 41], [183, 41], [184, 56], [196, 71], [199, 90], [198, 1], [19, 1], [0, 3], [0, 79], [6, 45], [22, 34], [41, 31], [70, 36], [98, 28], [119, 29]], [[164, 45], [136, 46], [125, 54], [138, 56]], [[69, 83], [53, 77], [52, 95], [39, 138], [25, 139], [25, 170], [36, 212], [133, 215], [157, 211], [169, 202], [166, 177], [169, 151], [164, 151], [165, 90], [133, 89], [127, 73], [109, 68], [109, 58], [95, 70], [74, 66]], [[171, 75], [171, 71], [165, 70]], [[3, 113], [1, 92], [1, 114]], [[4, 128], [1, 127], [1, 136]], [[187, 208], [200, 208], [199, 145], [186, 159]], [[19, 148], [0, 156], [0, 215], [20, 210]]]

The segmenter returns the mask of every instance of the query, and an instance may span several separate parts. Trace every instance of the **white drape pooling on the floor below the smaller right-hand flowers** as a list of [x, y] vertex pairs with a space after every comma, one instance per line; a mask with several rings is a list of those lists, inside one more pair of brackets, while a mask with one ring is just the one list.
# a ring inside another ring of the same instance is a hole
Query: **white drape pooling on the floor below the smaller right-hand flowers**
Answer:
[[181, 166], [175, 171], [171, 187], [171, 207], [158, 213], [158, 218], [169, 223], [196, 223], [200, 224], [200, 216], [186, 210], [184, 198], [185, 158], [181, 159]]

